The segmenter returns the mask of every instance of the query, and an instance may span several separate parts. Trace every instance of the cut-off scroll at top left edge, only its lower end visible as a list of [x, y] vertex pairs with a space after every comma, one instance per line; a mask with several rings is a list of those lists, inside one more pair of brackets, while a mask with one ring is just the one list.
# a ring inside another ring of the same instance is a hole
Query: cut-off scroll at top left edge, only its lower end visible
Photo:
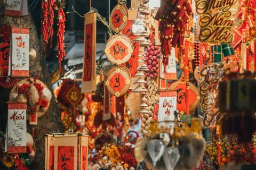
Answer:
[[28, 0], [7, 0], [4, 14], [14, 17], [27, 16]]

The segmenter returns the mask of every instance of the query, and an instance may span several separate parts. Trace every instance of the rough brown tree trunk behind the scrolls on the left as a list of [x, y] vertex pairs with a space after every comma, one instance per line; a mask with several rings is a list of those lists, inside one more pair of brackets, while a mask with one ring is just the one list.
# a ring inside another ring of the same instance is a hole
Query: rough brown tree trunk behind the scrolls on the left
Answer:
[[[10, 16], [4, 16], [5, 10], [5, 0], [0, 0], [0, 26], [4, 24], [11, 24], [14, 27], [27, 27], [30, 28], [30, 40], [29, 47], [34, 48], [37, 52], [37, 57], [34, 61], [30, 61], [30, 77], [38, 77], [39, 80], [43, 81], [48, 88], [52, 91], [50, 84], [50, 74], [47, 70], [44, 52], [43, 52], [43, 44], [40, 43], [39, 38], [37, 36], [37, 31], [35, 27], [35, 23], [31, 17], [24, 16], [19, 18], [12, 18]], [[41, 16], [38, 16], [41, 17]], [[55, 57], [55, 56], [51, 56]], [[9, 99], [10, 89], [0, 88], [0, 128], [1, 131], [6, 129], [7, 122], [7, 105], [6, 102]], [[34, 128], [35, 132], [35, 145], [36, 145], [36, 158], [34, 162], [29, 167], [30, 169], [41, 170], [45, 168], [45, 139], [44, 134], [49, 134], [51, 131], [63, 131], [61, 120], [60, 120], [60, 111], [57, 106], [57, 103], [54, 99], [54, 95], [52, 95], [51, 105], [47, 113], [38, 119], [38, 125], [29, 125], [27, 122], [27, 131], [31, 134], [32, 129]]]

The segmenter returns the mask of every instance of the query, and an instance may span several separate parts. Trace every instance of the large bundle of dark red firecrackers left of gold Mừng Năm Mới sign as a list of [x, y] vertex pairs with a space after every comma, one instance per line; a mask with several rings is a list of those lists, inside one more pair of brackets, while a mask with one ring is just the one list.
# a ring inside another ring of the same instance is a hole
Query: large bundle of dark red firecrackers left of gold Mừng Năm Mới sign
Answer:
[[184, 48], [185, 28], [188, 16], [192, 9], [190, 3], [185, 0], [166, 1], [161, 0], [161, 6], [156, 14], [159, 20], [159, 32], [161, 35], [161, 49], [164, 55], [163, 64], [168, 64], [171, 55], [171, 47]]

